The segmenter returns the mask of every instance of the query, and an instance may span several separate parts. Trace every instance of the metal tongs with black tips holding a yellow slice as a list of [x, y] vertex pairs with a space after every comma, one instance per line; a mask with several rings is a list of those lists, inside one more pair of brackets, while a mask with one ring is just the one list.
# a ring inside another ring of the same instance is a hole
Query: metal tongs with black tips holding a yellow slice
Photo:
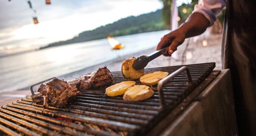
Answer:
[[168, 49], [169, 49], [169, 46], [162, 48], [160, 50], [154, 51], [151, 54], [148, 54], [147, 56], [143, 55], [143, 56], [138, 57], [136, 60], [134, 60], [134, 62], [132, 64], [132, 68], [134, 68], [135, 70], [145, 68], [150, 61], [152, 61], [155, 58], [157, 58], [158, 56], [162, 55], [163, 53], [168, 51]]

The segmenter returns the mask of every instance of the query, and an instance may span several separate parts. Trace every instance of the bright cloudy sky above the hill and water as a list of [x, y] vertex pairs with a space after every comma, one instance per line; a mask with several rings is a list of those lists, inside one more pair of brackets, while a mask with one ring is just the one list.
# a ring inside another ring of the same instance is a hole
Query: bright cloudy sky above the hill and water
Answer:
[[[0, 0], [0, 54], [37, 49], [128, 16], [162, 8], [160, 0]], [[33, 24], [33, 17], [39, 23]]]

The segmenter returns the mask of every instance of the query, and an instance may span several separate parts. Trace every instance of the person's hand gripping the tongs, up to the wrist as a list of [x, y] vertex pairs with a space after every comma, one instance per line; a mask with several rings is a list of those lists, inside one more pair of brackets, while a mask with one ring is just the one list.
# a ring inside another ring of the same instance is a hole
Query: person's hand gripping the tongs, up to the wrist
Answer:
[[169, 46], [169, 49], [166, 53], [164, 53], [164, 56], [171, 56], [171, 54], [177, 50], [177, 47], [181, 45], [185, 40], [185, 33], [181, 30], [181, 28], [178, 28], [169, 34], [163, 36], [158, 43], [156, 50], [160, 50], [163, 47]]

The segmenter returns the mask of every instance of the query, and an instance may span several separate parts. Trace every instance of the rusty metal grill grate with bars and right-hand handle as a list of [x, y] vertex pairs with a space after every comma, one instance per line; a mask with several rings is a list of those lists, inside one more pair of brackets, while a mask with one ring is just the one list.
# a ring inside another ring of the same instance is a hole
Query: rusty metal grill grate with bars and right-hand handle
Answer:
[[[215, 63], [184, 66], [146, 68], [144, 73], [168, 71], [169, 75], [167, 80], [153, 86], [156, 89], [154, 95], [144, 101], [108, 97], [105, 88], [82, 91], [65, 108], [49, 104], [49, 109], [45, 109], [42, 104], [33, 103], [31, 97], [18, 100], [1, 107], [0, 130], [8, 135], [29, 136], [156, 135], [148, 132], [161, 127], [157, 124], [167, 114], [173, 113], [169, 118], [172, 121], [191, 101], [200, 100], [197, 95], [220, 72], [213, 71]], [[125, 81], [121, 71], [112, 74], [114, 84]], [[208, 80], [204, 81], [205, 78]], [[136, 80], [136, 84], [141, 83]], [[185, 98], [189, 99], [182, 102]]]

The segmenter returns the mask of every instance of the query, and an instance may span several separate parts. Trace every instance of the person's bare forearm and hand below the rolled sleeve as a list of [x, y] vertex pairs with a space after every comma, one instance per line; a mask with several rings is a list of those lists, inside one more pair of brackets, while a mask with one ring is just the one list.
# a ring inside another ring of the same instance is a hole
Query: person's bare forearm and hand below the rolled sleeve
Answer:
[[177, 47], [184, 42], [185, 38], [202, 34], [209, 26], [209, 23], [202, 14], [194, 12], [178, 29], [163, 36], [156, 50], [169, 46], [168, 52], [163, 55], [171, 56], [177, 50]]

